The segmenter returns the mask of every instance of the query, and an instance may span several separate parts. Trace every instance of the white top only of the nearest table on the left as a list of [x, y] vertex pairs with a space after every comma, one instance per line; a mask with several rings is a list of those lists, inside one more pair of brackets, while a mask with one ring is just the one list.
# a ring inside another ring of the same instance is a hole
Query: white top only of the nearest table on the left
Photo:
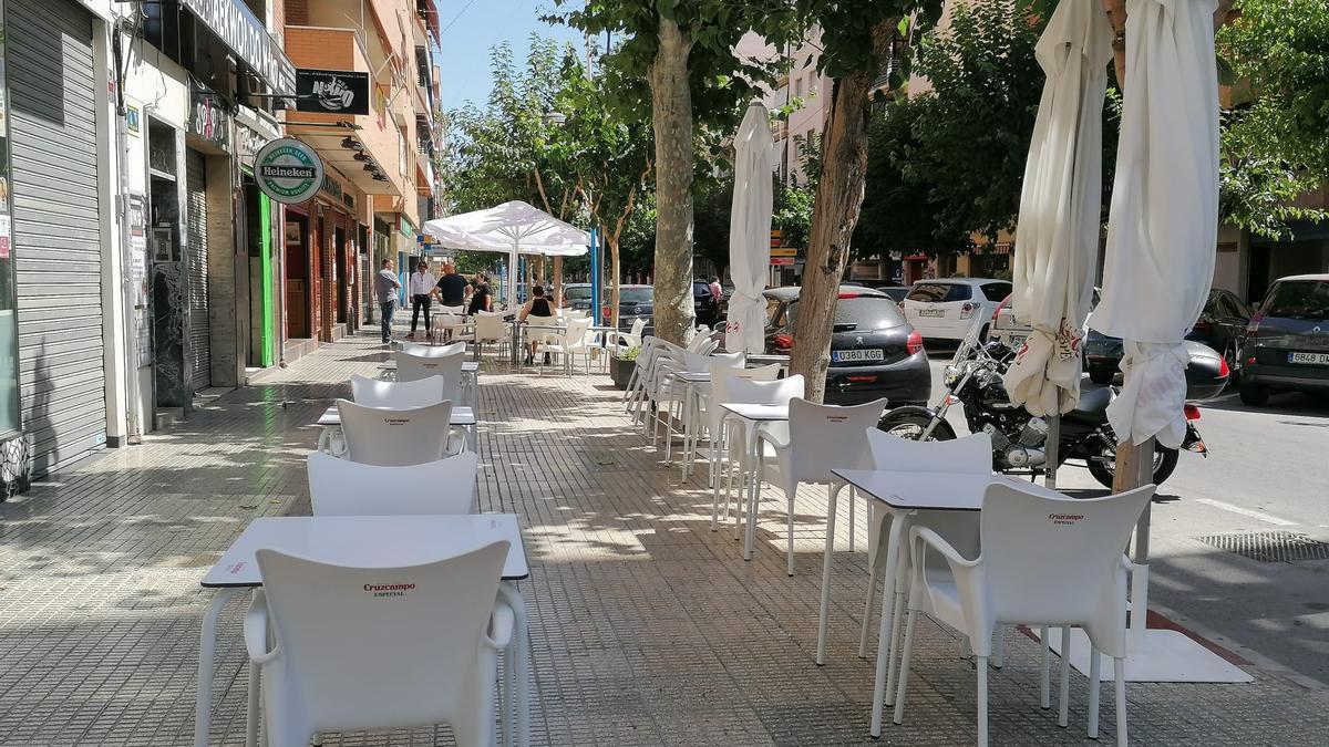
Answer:
[[512, 513], [462, 516], [267, 516], [255, 518], [203, 576], [205, 587], [262, 586], [255, 553], [280, 550], [323, 562], [400, 568], [508, 540], [502, 578], [530, 576]]

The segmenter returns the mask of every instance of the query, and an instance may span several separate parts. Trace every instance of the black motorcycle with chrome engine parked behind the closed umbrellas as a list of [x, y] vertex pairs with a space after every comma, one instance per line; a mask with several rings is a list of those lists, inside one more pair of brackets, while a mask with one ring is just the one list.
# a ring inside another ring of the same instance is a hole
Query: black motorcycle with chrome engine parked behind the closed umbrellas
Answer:
[[[1035, 417], [1010, 401], [1002, 376], [1014, 354], [998, 342], [986, 346], [966, 342], [946, 367], [946, 395], [936, 408], [897, 407], [882, 415], [877, 428], [910, 440], [946, 441], [956, 431], [946, 423], [952, 405], [965, 408], [965, 420], [974, 433], [987, 433], [993, 441], [993, 468], [1007, 475], [1042, 475], [1047, 465], [1047, 420]], [[1061, 419], [1057, 465], [1083, 461], [1094, 479], [1112, 486], [1116, 465], [1116, 433], [1107, 423], [1107, 405], [1118, 391], [1112, 387], [1080, 392], [1079, 404]], [[1181, 448], [1208, 456], [1195, 420], [1200, 411], [1185, 405], [1187, 431]], [[1154, 484], [1162, 485], [1176, 469], [1177, 451], [1156, 447]]]

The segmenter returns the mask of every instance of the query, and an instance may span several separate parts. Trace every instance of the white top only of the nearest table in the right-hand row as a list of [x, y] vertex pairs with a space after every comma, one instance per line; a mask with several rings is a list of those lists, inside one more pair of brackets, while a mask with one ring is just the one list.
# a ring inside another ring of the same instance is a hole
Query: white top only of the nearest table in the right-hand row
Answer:
[[960, 472], [900, 472], [884, 469], [832, 469], [845, 482], [890, 508], [902, 510], [982, 510], [989, 485], [1009, 482], [1053, 498], [1065, 494], [1006, 475]]

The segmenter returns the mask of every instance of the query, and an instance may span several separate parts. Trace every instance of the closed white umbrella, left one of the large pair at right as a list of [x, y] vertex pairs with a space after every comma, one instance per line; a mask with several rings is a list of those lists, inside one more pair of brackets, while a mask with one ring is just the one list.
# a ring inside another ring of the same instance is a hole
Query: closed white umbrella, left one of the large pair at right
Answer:
[[1030, 413], [1057, 416], [1079, 401], [1079, 343], [1098, 258], [1103, 96], [1112, 58], [1112, 24], [1099, 0], [1058, 4], [1035, 56], [1047, 81], [1019, 197], [1011, 299], [1015, 318], [1033, 332], [1006, 374], [1006, 389]]

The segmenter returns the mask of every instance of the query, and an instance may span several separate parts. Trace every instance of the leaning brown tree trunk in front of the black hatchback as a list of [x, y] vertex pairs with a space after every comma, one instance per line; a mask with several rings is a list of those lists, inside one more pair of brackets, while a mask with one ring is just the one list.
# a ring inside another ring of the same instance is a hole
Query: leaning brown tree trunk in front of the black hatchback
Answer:
[[[886, 19], [872, 29], [878, 60], [888, 58], [900, 19]], [[832, 81], [831, 112], [821, 137], [821, 175], [812, 207], [803, 290], [793, 323], [789, 370], [807, 379], [804, 396], [821, 401], [831, 364], [831, 312], [840, 278], [849, 259], [849, 238], [863, 207], [868, 171], [868, 92], [877, 72], [861, 68]]]

